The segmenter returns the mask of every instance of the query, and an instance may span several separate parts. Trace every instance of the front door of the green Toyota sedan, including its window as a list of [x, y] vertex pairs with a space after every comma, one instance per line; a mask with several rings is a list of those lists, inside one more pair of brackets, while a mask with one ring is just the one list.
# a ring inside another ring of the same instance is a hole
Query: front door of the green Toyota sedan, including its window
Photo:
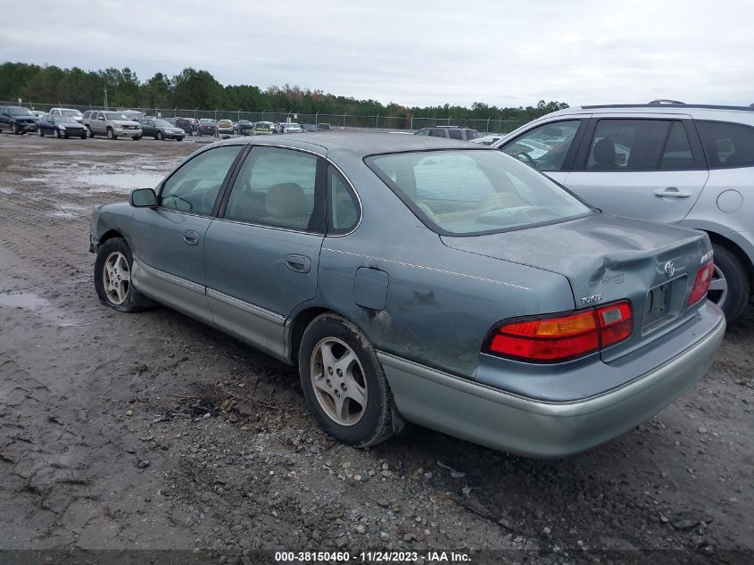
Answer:
[[202, 262], [204, 237], [242, 145], [197, 154], [162, 183], [158, 207], [137, 208], [129, 244], [134, 285], [176, 310], [209, 321]]

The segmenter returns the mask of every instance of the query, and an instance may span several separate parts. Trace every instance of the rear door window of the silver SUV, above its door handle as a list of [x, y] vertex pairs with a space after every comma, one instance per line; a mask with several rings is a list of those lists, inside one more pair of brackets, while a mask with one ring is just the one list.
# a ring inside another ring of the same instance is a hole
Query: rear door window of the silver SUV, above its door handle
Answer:
[[586, 170], [692, 169], [684, 124], [677, 120], [600, 120]]

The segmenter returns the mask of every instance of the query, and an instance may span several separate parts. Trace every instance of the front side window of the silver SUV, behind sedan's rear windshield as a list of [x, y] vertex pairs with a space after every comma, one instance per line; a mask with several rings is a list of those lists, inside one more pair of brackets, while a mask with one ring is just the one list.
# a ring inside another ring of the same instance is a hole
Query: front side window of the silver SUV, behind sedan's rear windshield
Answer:
[[581, 120], [558, 121], [527, 131], [501, 151], [537, 170], [561, 170]]

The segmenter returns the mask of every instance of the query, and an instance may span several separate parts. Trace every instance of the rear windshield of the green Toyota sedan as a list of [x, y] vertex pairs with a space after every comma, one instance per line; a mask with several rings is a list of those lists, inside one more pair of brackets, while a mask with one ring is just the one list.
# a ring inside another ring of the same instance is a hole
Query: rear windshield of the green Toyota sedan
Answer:
[[465, 236], [593, 212], [543, 174], [499, 151], [431, 151], [365, 160], [428, 228]]

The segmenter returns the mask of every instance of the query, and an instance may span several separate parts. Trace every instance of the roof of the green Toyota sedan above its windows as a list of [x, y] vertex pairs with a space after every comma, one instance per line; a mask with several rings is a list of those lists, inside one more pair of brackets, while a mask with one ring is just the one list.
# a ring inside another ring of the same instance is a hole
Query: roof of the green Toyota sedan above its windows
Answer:
[[279, 145], [302, 148], [311, 146], [315, 153], [329, 154], [358, 154], [367, 156], [371, 154], [402, 153], [408, 151], [430, 151], [432, 149], [463, 149], [469, 151], [489, 151], [486, 145], [472, 144], [468, 141], [449, 139], [446, 137], [424, 136], [394, 136], [389, 133], [366, 133], [366, 132], [319, 132], [298, 136], [288, 134], [280, 137], [234, 138], [220, 141], [220, 145]]

